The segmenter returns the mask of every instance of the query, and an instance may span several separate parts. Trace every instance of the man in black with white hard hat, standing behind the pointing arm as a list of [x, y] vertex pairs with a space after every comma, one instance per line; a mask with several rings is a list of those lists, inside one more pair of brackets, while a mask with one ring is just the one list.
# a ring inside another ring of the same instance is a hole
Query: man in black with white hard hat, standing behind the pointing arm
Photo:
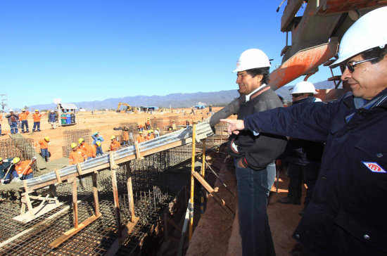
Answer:
[[[292, 105], [317, 102], [315, 94], [317, 91], [314, 84], [307, 81], [298, 82], [291, 92]], [[279, 198], [278, 201], [279, 203], [300, 205], [302, 186], [305, 182], [307, 185], [306, 196], [304, 207], [298, 212], [299, 215], [303, 215], [312, 199], [321, 165], [323, 147], [323, 143], [296, 138], [289, 138], [286, 144], [284, 160], [288, 162], [288, 195]]]

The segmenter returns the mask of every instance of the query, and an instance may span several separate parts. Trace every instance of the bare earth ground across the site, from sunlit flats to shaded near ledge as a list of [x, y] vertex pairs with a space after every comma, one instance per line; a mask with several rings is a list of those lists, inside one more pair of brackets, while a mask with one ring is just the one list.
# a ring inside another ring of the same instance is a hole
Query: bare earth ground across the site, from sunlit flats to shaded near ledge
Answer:
[[[214, 108], [215, 111], [219, 109], [220, 108]], [[162, 117], [165, 119], [163, 125], [167, 127], [170, 125], [171, 118], [175, 117], [179, 118], [179, 121], [177, 122], [178, 126], [183, 125], [186, 119], [192, 122], [192, 120], [199, 121], [208, 117], [208, 113], [205, 110], [197, 110], [196, 115], [188, 115], [190, 112], [190, 108], [184, 109], [184, 112], [179, 109], [174, 110], [174, 113], [160, 113], [156, 111], [153, 114], [115, 113], [114, 111], [94, 111], [94, 113], [83, 112], [77, 113], [77, 124], [67, 127], [57, 127], [56, 129], [51, 129], [51, 125], [47, 122], [46, 115], [44, 115], [41, 122], [42, 132], [30, 132], [22, 135], [27, 139], [33, 139], [34, 142], [43, 139], [44, 136], [49, 136], [51, 142], [49, 145], [51, 160], [61, 161], [61, 165], [63, 165], [66, 161], [63, 159], [62, 151], [62, 146], [65, 143], [63, 132], [67, 130], [91, 129], [91, 133], [100, 132], [105, 139], [102, 147], [103, 151], [106, 152], [110, 145], [110, 136], [120, 136], [121, 134], [120, 130], [114, 130], [113, 128], [120, 127], [120, 123], [122, 122], [137, 122], [138, 124], [144, 125], [144, 122], [146, 122], [148, 117]], [[29, 117], [28, 121], [30, 124], [30, 131], [32, 131], [32, 118]], [[0, 141], [1, 139], [9, 139], [8, 134], [10, 133], [10, 129], [6, 119], [3, 119], [1, 126], [3, 136], [0, 137]], [[39, 148], [36, 148], [36, 151], [39, 152]], [[236, 177], [231, 159], [226, 159], [226, 155], [222, 153], [222, 157], [214, 162], [214, 166], [218, 168], [222, 181], [227, 184], [231, 192], [236, 196]], [[212, 177], [212, 179], [215, 178]], [[215, 181], [214, 186], [220, 188], [218, 193], [227, 205], [229, 205], [231, 209], [236, 210], [236, 197], [231, 196], [231, 193], [229, 193], [218, 180]], [[300, 221], [298, 211], [303, 205], [284, 205], [277, 203], [277, 198], [286, 196], [287, 193], [288, 179], [284, 173], [280, 173], [278, 186], [278, 193], [275, 192], [275, 187], [272, 188], [267, 213], [269, 215], [269, 224], [272, 230], [277, 255], [290, 255], [291, 250], [296, 245], [296, 242], [291, 238], [291, 234]], [[108, 203], [108, 201], [106, 201], [106, 203]], [[195, 208], [195, 210], [197, 212], [199, 209]], [[198, 214], [195, 215], [197, 226], [194, 230], [194, 236], [189, 243], [189, 248], [186, 250], [186, 255], [241, 255], [241, 238], [239, 236], [239, 227], [236, 220], [237, 215], [235, 218], [231, 217], [231, 215], [227, 214], [215, 200], [208, 198], [205, 214], [198, 221], [199, 216], [200, 215]], [[165, 255], [167, 255], [167, 252]]]

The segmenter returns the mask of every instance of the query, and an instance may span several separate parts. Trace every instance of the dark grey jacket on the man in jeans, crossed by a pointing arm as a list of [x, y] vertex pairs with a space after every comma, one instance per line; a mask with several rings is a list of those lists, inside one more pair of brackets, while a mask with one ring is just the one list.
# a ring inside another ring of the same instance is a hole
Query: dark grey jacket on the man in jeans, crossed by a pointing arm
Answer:
[[[265, 88], [264, 88], [265, 89]], [[256, 92], [250, 101], [242, 103], [238, 110], [238, 119], [256, 112], [283, 107], [277, 94], [268, 89]], [[241, 131], [236, 136], [230, 136], [228, 152], [237, 160], [243, 158], [243, 165], [251, 169], [265, 169], [269, 163], [284, 152], [286, 137], [260, 133], [255, 136], [253, 132]]]

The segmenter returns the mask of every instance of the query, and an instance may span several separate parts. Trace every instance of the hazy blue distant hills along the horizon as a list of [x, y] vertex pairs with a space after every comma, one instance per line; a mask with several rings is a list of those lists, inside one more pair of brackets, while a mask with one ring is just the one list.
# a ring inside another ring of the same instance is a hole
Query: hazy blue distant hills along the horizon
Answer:
[[[315, 84], [316, 89], [331, 89], [334, 88], [333, 82], [322, 81]], [[291, 101], [291, 89], [292, 86], [281, 87], [276, 91], [277, 94], [281, 95], [287, 101]], [[289, 90], [290, 89], [290, 90]], [[205, 105], [224, 105], [232, 101], [234, 98], [239, 97], [238, 91], [212, 91], [212, 92], [196, 92], [194, 94], [168, 94], [165, 96], [127, 96], [123, 98], [107, 98], [104, 101], [82, 101], [82, 102], [65, 102], [74, 103], [78, 108], [84, 108], [87, 110], [99, 110], [105, 108], [117, 108], [119, 102], [127, 103], [132, 106], [156, 106], [169, 108], [190, 108], [193, 105], [201, 102]], [[41, 105], [30, 105], [30, 109], [49, 110], [55, 108], [55, 104], [41, 104]], [[122, 107], [122, 109], [124, 109]]]

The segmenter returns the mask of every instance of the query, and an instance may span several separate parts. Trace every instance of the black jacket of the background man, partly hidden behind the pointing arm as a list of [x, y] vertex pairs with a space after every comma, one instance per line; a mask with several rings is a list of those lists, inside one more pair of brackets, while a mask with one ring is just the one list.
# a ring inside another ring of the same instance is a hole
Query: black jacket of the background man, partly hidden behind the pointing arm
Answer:
[[[315, 102], [315, 97], [302, 98], [294, 101], [293, 105]], [[286, 144], [284, 158], [296, 165], [321, 165], [324, 143], [307, 141], [305, 139], [289, 138]]]

